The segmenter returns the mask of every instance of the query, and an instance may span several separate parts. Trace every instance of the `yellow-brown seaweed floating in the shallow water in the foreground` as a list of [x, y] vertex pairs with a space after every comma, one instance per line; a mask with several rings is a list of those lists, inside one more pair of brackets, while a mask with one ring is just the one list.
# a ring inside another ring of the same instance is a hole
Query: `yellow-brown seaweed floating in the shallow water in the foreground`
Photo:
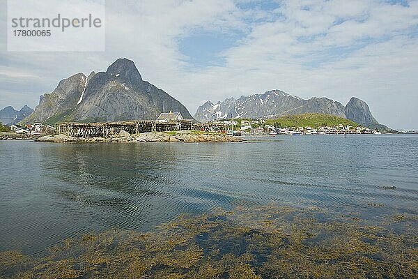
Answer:
[[417, 278], [417, 218], [394, 219], [408, 234], [320, 209], [219, 209], [146, 233], [68, 239], [45, 257], [1, 252], [0, 277]]

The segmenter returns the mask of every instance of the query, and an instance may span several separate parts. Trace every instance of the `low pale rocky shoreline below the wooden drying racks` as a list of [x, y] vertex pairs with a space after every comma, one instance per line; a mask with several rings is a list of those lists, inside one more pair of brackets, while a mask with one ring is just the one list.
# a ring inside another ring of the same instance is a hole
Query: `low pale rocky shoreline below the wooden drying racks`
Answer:
[[219, 134], [194, 133], [141, 133], [130, 135], [121, 131], [111, 137], [71, 137], [68, 135], [47, 135], [39, 137], [36, 142], [242, 142], [240, 137]]

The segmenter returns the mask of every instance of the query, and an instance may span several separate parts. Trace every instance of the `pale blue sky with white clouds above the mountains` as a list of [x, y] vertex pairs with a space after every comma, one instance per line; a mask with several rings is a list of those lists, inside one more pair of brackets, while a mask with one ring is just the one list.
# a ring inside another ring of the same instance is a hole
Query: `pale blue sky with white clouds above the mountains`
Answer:
[[36, 107], [59, 80], [125, 57], [191, 114], [280, 89], [356, 96], [380, 123], [418, 128], [418, 1], [106, 0], [104, 52], [8, 52], [6, 21], [0, 0], [0, 108]]

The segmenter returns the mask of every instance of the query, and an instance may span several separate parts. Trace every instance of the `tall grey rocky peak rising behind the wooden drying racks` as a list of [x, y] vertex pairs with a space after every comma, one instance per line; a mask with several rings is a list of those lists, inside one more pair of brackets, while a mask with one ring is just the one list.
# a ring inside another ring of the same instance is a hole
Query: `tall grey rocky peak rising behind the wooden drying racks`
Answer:
[[157, 119], [169, 111], [192, 119], [178, 100], [142, 80], [133, 61], [118, 59], [106, 72], [92, 72], [88, 77], [78, 73], [61, 80], [52, 93], [40, 97], [33, 114], [22, 122]]

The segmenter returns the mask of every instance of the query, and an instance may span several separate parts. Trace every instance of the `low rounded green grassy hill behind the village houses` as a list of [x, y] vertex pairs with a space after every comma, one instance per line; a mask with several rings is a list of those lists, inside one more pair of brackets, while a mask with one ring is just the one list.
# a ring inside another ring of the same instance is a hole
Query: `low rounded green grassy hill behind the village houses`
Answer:
[[318, 128], [320, 126], [360, 126], [350, 119], [332, 114], [307, 113], [281, 116], [277, 119], [266, 119], [265, 123], [276, 127], [307, 127]]

